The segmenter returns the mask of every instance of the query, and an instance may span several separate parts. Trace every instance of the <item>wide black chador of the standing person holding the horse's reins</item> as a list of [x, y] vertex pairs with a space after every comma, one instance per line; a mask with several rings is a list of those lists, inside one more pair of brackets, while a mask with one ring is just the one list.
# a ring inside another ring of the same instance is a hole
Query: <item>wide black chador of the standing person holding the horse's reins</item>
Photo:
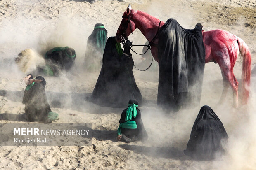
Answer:
[[133, 58], [120, 57], [115, 44], [115, 37], [109, 37], [92, 100], [107, 107], [126, 107], [131, 98], [141, 102], [142, 95], [133, 76]]

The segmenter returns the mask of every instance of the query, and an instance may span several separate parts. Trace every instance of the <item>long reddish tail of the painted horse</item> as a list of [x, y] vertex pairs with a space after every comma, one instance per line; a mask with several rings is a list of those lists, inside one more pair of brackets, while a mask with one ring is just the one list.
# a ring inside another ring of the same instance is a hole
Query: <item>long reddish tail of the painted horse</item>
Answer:
[[237, 43], [239, 46], [239, 56], [243, 60], [242, 64], [242, 93], [241, 93], [241, 101], [242, 104], [247, 104], [249, 99], [249, 91], [250, 91], [250, 81], [251, 81], [251, 53], [250, 50], [245, 44], [245, 42], [237, 37]]

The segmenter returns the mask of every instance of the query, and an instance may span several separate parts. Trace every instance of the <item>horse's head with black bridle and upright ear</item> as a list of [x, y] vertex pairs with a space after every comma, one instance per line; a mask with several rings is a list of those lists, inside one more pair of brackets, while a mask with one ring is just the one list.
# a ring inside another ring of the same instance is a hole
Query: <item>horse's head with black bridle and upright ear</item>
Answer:
[[116, 41], [118, 42], [124, 42], [124, 40], [126, 40], [127, 37], [130, 35], [130, 33], [133, 33], [136, 28], [135, 23], [132, 21], [132, 11], [132, 7], [129, 4], [126, 11], [123, 13], [123, 19], [116, 32]]

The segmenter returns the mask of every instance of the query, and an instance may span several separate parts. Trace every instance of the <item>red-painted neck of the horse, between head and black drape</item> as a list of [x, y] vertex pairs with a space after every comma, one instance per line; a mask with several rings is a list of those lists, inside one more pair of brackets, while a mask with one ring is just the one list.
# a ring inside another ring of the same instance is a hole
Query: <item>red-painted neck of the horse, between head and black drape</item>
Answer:
[[[133, 10], [132, 12], [131, 20], [135, 23], [136, 28], [151, 42], [157, 33], [160, 20], [142, 11]], [[160, 27], [163, 25], [164, 22], [161, 22]]]

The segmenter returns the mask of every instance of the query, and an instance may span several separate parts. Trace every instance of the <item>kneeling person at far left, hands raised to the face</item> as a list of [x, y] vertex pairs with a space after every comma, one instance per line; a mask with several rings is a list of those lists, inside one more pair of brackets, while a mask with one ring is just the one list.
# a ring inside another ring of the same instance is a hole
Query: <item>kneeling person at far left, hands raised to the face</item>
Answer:
[[47, 102], [45, 79], [42, 76], [33, 79], [33, 75], [29, 74], [25, 77], [25, 81], [27, 86], [24, 91], [22, 103], [25, 104], [27, 121], [51, 123], [52, 120], [58, 119], [58, 114], [52, 112], [50, 105]]

